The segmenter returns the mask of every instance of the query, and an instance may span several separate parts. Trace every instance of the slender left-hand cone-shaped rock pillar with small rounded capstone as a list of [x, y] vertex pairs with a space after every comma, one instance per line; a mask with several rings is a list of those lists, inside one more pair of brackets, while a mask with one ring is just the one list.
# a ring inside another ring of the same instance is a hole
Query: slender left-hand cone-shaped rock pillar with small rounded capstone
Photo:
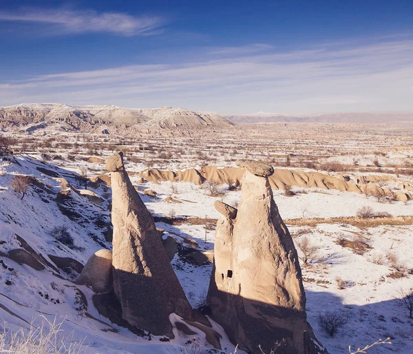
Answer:
[[169, 315], [191, 317], [189, 304], [155, 222], [123, 165], [123, 154], [107, 159], [112, 177], [114, 292], [122, 317], [154, 335], [171, 335]]

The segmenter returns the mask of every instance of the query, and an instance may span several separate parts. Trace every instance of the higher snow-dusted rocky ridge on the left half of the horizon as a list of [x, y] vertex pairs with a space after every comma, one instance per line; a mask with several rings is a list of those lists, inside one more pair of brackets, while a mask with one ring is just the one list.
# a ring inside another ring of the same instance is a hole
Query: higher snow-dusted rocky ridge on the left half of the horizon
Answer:
[[58, 103], [30, 103], [0, 107], [0, 128], [32, 131], [56, 128], [87, 130], [99, 125], [145, 125], [147, 127], [195, 129], [229, 127], [218, 114], [204, 114], [182, 108], [134, 109], [114, 105], [71, 106]]

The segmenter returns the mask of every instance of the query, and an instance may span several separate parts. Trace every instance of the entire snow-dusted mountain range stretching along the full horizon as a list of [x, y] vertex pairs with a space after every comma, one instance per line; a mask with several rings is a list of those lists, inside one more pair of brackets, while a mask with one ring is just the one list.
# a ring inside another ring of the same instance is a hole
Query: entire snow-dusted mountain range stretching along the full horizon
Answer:
[[216, 114], [183, 108], [126, 108], [116, 105], [65, 105], [29, 103], [0, 107], [0, 129], [33, 132], [37, 129], [87, 131], [109, 126], [148, 128], [231, 127], [253, 123], [396, 123], [413, 124], [409, 113], [336, 113], [285, 115], [267, 112], [255, 114]]

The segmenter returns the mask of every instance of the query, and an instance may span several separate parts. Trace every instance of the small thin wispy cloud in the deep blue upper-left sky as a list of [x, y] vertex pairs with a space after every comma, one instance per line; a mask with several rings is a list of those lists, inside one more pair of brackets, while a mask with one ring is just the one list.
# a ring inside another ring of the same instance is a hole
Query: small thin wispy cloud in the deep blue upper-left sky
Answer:
[[161, 17], [134, 17], [120, 12], [68, 9], [23, 9], [0, 12], [0, 21], [38, 23], [52, 26], [54, 34], [109, 32], [122, 36], [150, 35], [161, 31], [165, 19]]

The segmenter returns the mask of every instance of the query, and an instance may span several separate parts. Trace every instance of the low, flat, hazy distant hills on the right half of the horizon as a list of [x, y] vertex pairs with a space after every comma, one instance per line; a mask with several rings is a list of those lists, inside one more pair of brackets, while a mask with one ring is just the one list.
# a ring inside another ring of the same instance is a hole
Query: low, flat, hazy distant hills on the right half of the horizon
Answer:
[[258, 112], [255, 114], [224, 114], [234, 124], [253, 123], [413, 123], [413, 113], [335, 113], [320, 115], [294, 115]]

